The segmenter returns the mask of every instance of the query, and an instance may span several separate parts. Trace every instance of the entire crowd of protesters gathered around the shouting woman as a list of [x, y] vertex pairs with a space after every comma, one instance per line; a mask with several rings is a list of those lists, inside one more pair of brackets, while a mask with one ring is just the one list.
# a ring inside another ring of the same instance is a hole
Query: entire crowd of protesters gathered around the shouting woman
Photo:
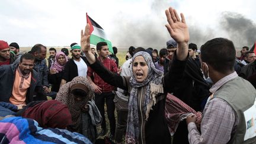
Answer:
[[245, 46], [236, 57], [224, 38], [199, 50], [188, 44], [184, 15], [172, 8], [165, 14], [167, 47], [130, 46], [123, 65], [117, 47], [112, 54], [104, 41], [90, 47], [89, 24], [81, 44], [52, 47], [47, 60], [43, 44], [22, 53], [0, 40], [1, 119], [33, 119], [92, 143], [104, 136], [116, 143], [256, 143], [254, 51]]

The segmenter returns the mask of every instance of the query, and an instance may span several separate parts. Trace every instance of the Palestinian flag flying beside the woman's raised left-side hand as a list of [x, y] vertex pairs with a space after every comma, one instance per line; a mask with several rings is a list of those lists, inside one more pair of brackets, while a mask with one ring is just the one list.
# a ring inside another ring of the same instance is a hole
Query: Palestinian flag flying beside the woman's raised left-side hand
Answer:
[[90, 43], [97, 45], [98, 42], [104, 41], [108, 44], [108, 50], [111, 53], [114, 53], [112, 49], [111, 41], [109, 41], [105, 36], [105, 32], [103, 28], [99, 24], [97, 24], [94, 20], [92, 20], [92, 18], [90, 18], [88, 15], [87, 15], [87, 23], [90, 25], [90, 31], [89, 31], [89, 33], [91, 34]]

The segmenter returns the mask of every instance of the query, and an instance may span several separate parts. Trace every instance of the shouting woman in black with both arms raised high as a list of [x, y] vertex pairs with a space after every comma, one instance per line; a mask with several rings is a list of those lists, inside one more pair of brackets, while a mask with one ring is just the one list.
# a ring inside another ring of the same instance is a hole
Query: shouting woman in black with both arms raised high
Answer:
[[[91, 53], [90, 25], [85, 27], [85, 33], [81, 31], [81, 47], [90, 67], [108, 84], [130, 92], [126, 143], [171, 143], [165, 119], [165, 99], [167, 92], [171, 92], [183, 77], [189, 40], [184, 16], [181, 15], [180, 21], [174, 13], [171, 8], [166, 11], [169, 22], [167, 28], [177, 41], [178, 49], [171, 69], [165, 76], [155, 68], [152, 57], [146, 52], [138, 52], [133, 56], [132, 77], [108, 71]], [[181, 34], [184, 37], [179, 37]]]

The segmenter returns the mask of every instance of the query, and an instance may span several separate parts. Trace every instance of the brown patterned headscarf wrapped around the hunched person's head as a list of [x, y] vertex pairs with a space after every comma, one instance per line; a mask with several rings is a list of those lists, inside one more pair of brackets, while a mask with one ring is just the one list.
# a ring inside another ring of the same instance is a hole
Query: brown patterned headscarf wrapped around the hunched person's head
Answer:
[[[73, 97], [73, 95], [71, 94], [71, 87], [76, 84], [83, 84], [88, 88], [87, 97], [84, 98], [82, 101], [76, 101], [75, 97]], [[94, 98], [94, 89], [92, 88], [91, 84], [85, 76], [76, 76], [72, 79], [71, 82], [68, 82], [60, 87], [60, 90], [56, 96], [56, 100], [68, 105], [73, 121], [68, 129], [72, 132], [79, 133], [81, 131], [82, 107], [84, 107], [84, 105], [87, 104], [88, 100], [90, 100], [91, 98]]]

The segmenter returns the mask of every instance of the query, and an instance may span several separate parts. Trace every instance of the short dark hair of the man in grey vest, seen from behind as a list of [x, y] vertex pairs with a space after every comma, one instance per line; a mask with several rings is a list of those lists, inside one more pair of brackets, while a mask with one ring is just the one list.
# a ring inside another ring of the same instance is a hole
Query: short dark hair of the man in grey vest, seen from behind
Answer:
[[226, 72], [233, 71], [235, 58], [236, 50], [231, 40], [216, 38], [201, 46], [201, 60], [217, 72], [226, 74]]

